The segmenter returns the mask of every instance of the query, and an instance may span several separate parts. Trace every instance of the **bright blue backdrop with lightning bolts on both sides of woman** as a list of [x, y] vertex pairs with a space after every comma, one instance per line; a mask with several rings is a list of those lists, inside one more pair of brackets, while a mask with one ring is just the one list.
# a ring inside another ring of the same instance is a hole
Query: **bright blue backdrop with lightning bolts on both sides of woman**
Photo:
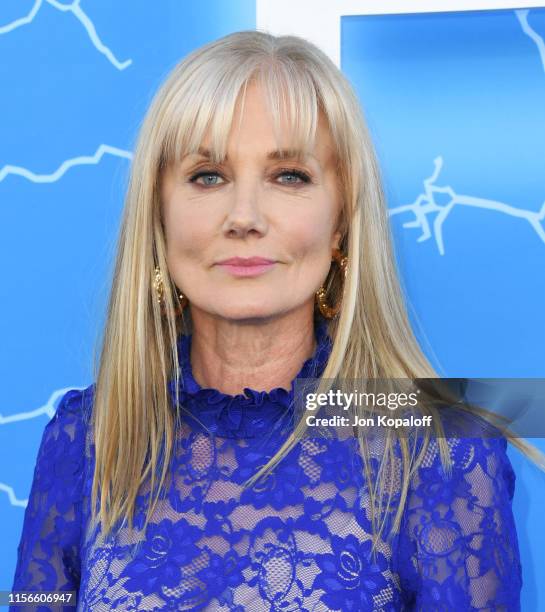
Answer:
[[[92, 27], [47, 3], [15, 27], [33, 5], [0, 8], [0, 589], [12, 583], [43, 428], [65, 389], [93, 382], [140, 121], [183, 56], [256, 24], [253, 0], [84, 0]], [[543, 39], [545, 10], [528, 21]], [[341, 65], [377, 148], [409, 313], [433, 365], [545, 377], [545, 239], [528, 221], [545, 200], [538, 46], [513, 10], [343, 17]], [[439, 158], [433, 185], [449, 193], [425, 191]], [[545, 611], [545, 475], [509, 455], [522, 609]]]

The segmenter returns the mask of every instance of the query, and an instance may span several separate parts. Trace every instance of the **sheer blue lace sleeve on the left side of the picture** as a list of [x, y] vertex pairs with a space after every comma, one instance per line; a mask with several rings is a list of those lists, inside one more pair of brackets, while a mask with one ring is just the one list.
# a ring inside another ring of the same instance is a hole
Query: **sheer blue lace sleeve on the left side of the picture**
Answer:
[[[12, 591], [77, 591], [79, 588], [86, 429], [82, 396], [82, 391], [68, 391], [45, 426], [17, 548]], [[50, 609], [43, 604], [24, 609], [35, 608]], [[58, 610], [59, 606], [51, 609]]]

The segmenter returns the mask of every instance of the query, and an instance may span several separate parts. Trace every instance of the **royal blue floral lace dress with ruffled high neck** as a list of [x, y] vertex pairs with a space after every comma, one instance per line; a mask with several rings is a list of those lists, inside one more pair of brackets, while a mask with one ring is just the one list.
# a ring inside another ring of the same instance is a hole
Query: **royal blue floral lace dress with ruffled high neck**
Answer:
[[[316, 338], [300, 378], [325, 367], [323, 323]], [[293, 384], [236, 396], [203, 389], [190, 345], [190, 336], [180, 338], [181, 399], [191, 416], [145, 530], [145, 488], [134, 531], [104, 539], [100, 523], [91, 524], [94, 387], [63, 396], [39, 448], [13, 591], [75, 590], [77, 610], [93, 612], [520, 609], [515, 474], [504, 438], [449, 440], [450, 478], [432, 443], [399, 533], [373, 557], [355, 441], [305, 438], [272, 475], [242, 490], [283, 440]], [[371, 461], [380, 458], [375, 449]]]

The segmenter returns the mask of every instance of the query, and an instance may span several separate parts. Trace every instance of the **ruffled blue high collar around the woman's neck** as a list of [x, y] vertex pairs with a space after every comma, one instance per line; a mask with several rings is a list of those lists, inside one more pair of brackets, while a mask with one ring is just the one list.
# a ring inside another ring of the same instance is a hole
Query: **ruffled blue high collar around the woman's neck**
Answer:
[[[293, 379], [290, 391], [282, 387], [270, 391], [246, 387], [238, 395], [199, 385], [191, 370], [191, 334], [181, 335], [178, 339], [181, 370], [179, 398], [181, 405], [190, 413], [187, 415], [184, 412], [184, 418], [187, 416], [192, 426], [202, 429], [203, 424], [205, 430], [225, 438], [256, 438], [293, 424], [295, 381], [300, 378], [318, 378], [331, 352], [332, 341], [323, 317], [317, 318], [314, 331], [316, 349]], [[169, 390], [174, 405], [175, 385], [172, 380]]]

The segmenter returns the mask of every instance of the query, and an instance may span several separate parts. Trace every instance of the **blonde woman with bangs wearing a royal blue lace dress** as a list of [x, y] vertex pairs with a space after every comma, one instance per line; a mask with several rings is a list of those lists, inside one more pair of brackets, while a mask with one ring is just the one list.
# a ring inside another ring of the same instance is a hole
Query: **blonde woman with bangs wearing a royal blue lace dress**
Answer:
[[[78, 610], [517, 610], [501, 436], [309, 435], [295, 383], [437, 378], [353, 90], [297, 37], [185, 58], [135, 150], [96, 383], [47, 425], [13, 591]], [[537, 451], [513, 442], [536, 460]]]

